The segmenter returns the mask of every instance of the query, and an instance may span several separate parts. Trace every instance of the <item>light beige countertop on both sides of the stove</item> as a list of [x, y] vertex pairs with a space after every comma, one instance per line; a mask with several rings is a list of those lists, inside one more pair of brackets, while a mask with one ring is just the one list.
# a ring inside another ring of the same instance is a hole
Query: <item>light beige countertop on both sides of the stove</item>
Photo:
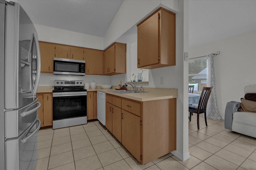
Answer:
[[[50, 93], [54, 87], [52, 86], [39, 86], [37, 93]], [[111, 92], [110, 90], [115, 89], [88, 89], [87, 91], [101, 91], [104, 93], [108, 93], [111, 95], [116, 95], [119, 97], [124, 97], [127, 99], [133, 99], [136, 101], [153, 101], [153, 100], [162, 100], [162, 99], [172, 99], [178, 97], [178, 89], [164, 89], [164, 88], [151, 88], [151, 87], [144, 87], [142, 91], [147, 91], [148, 93], [115, 93]]]

